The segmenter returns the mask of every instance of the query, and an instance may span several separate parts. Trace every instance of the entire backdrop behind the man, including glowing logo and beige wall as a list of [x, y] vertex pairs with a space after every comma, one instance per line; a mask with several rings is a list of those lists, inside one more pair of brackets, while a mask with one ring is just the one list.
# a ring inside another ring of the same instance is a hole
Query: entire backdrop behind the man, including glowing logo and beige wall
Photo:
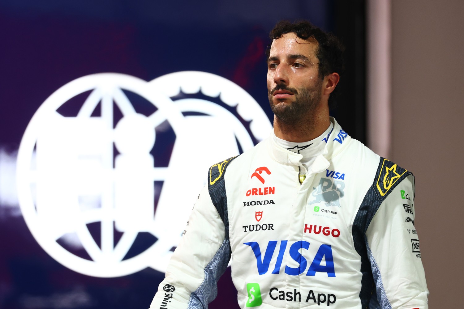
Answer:
[[[264, 52], [279, 19], [309, 19], [346, 45], [332, 115], [416, 175], [431, 308], [453, 305], [463, 9], [2, 1], [0, 308], [148, 308], [207, 168], [271, 132]], [[230, 271], [210, 307], [238, 307]]]

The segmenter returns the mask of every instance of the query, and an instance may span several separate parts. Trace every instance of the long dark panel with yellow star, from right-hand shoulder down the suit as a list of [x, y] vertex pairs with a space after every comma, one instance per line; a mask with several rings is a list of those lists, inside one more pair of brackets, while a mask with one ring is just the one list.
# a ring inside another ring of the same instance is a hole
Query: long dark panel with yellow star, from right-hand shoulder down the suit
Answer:
[[364, 200], [354, 218], [353, 240], [356, 252], [361, 256], [361, 298], [362, 308], [367, 308], [373, 295], [376, 295], [371, 264], [367, 256], [365, 233], [380, 204], [411, 172], [394, 164], [386, 158], [380, 157], [380, 163], [375, 174], [374, 183], [367, 190]]

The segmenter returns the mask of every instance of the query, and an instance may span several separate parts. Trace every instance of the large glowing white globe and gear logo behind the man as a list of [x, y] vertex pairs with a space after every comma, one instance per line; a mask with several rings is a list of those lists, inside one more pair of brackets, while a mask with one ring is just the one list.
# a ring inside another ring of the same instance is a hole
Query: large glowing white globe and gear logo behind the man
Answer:
[[[154, 112], [137, 113], [128, 93]], [[77, 114], [60, 114], [78, 95], [86, 97]], [[175, 141], [169, 163], [160, 166], [153, 153], [168, 148], [157, 139], [166, 130]], [[151, 82], [116, 73], [84, 76], [55, 91], [27, 126], [17, 162], [19, 206], [39, 245], [71, 270], [95, 277], [146, 267], [165, 272], [208, 167], [270, 130], [245, 90], [210, 73], [176, 72]], [[98, 239], [88, 228], [96, 223]], [[154, 243], [128, 257], [141, 232]], [[77, 241], [88, 256], [77, 256], [63, 240]]]

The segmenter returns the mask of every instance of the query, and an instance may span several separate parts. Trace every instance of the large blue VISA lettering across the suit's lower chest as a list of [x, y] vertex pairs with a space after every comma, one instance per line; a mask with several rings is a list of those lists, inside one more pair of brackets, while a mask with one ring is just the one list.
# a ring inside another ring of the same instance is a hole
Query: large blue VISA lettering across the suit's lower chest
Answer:
[[[264, 254], [259, 247], [258, 242], [251, 241], [245, 242], [244, 245], [250, 246], [253, 254], [256, 258], [256, 266], [258, 267], [258, 273], [264, 275], [269, 271], [269, 264], [271, 263], [272, 256], [276, 251], [278, 240], [270, 240], [264, 250]], [[306, 271], [306, 276], [315, 276], [316, 272], [326, 272], [328, 277], [335, 277], [334, 257], [332, 255], [332, 246], [322, 244], [316, 252], [316, 256], [308, 266], [308, 260], [303, 257], [303, 249], [309, 249], [309, 242], [305, 240], [299, 240], [295, 243], [288, 244], [288, 240], [280, 240], [280, 245], [277, 253], [277, 261], [274, 265], [273, 274], [278, 274], [282, 266], [284, 256], [290, 255], [291, 259], [294, 259], [299, 266], [290, 267], [285, 266], [285, 273], [290, 276], [301, 275]], [[325, 258], [325, 263], [321, 263], [322, 259]], [[285, 258], [287, 260], [287, 258]], [[321, 265], [323, 264], [323, 265]]]

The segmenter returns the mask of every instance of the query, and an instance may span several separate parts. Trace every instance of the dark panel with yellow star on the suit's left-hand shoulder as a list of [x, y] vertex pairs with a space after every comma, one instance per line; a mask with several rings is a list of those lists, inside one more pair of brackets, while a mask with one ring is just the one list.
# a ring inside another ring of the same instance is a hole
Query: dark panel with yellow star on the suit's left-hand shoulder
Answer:
[[218, 210], [219, 216], [224, 222], [226, 230], [226, 239], [229, 239], [229, 216], [227, 214], [227, 196], [226, 196], [226, 183], [224, 182], [224, 174], [229, 164], [236, 157], [228, 158], [209, 168], [208, 173], [208, 190], [213, 201], [214, 207]]

